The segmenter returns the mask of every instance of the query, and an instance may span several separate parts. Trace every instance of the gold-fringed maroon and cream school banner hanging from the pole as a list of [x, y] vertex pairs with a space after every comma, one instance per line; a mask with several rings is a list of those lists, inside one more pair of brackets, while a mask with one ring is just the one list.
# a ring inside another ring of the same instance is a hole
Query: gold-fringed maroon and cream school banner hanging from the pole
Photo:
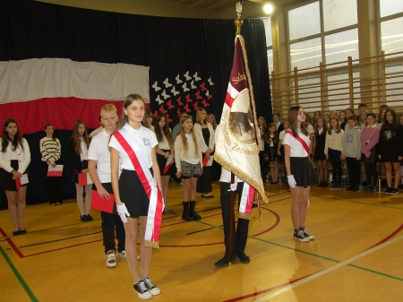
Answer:
[[[234, 173], [236, 177], [243, 179], [246, 184], [255, 188], [262, 195], [263, 201], [268, 203], [264, 194], [259, 160], [262, 142], [256, 135], [259, 133], [259, 128], [254, 106], [252, 79], [246, 62], [244, 38], [236, 35], [234, 64], [219, 123], [214, 159]], [[249, 189], [247, 191], [252, 192]], [[247, 203], [248, 200], [250, 201], [250, 198], [245, 198], [244, 203]], [[245, 219], [250, 218], [250, 209], [247, 204], [241, 204], [239, 216]]]

